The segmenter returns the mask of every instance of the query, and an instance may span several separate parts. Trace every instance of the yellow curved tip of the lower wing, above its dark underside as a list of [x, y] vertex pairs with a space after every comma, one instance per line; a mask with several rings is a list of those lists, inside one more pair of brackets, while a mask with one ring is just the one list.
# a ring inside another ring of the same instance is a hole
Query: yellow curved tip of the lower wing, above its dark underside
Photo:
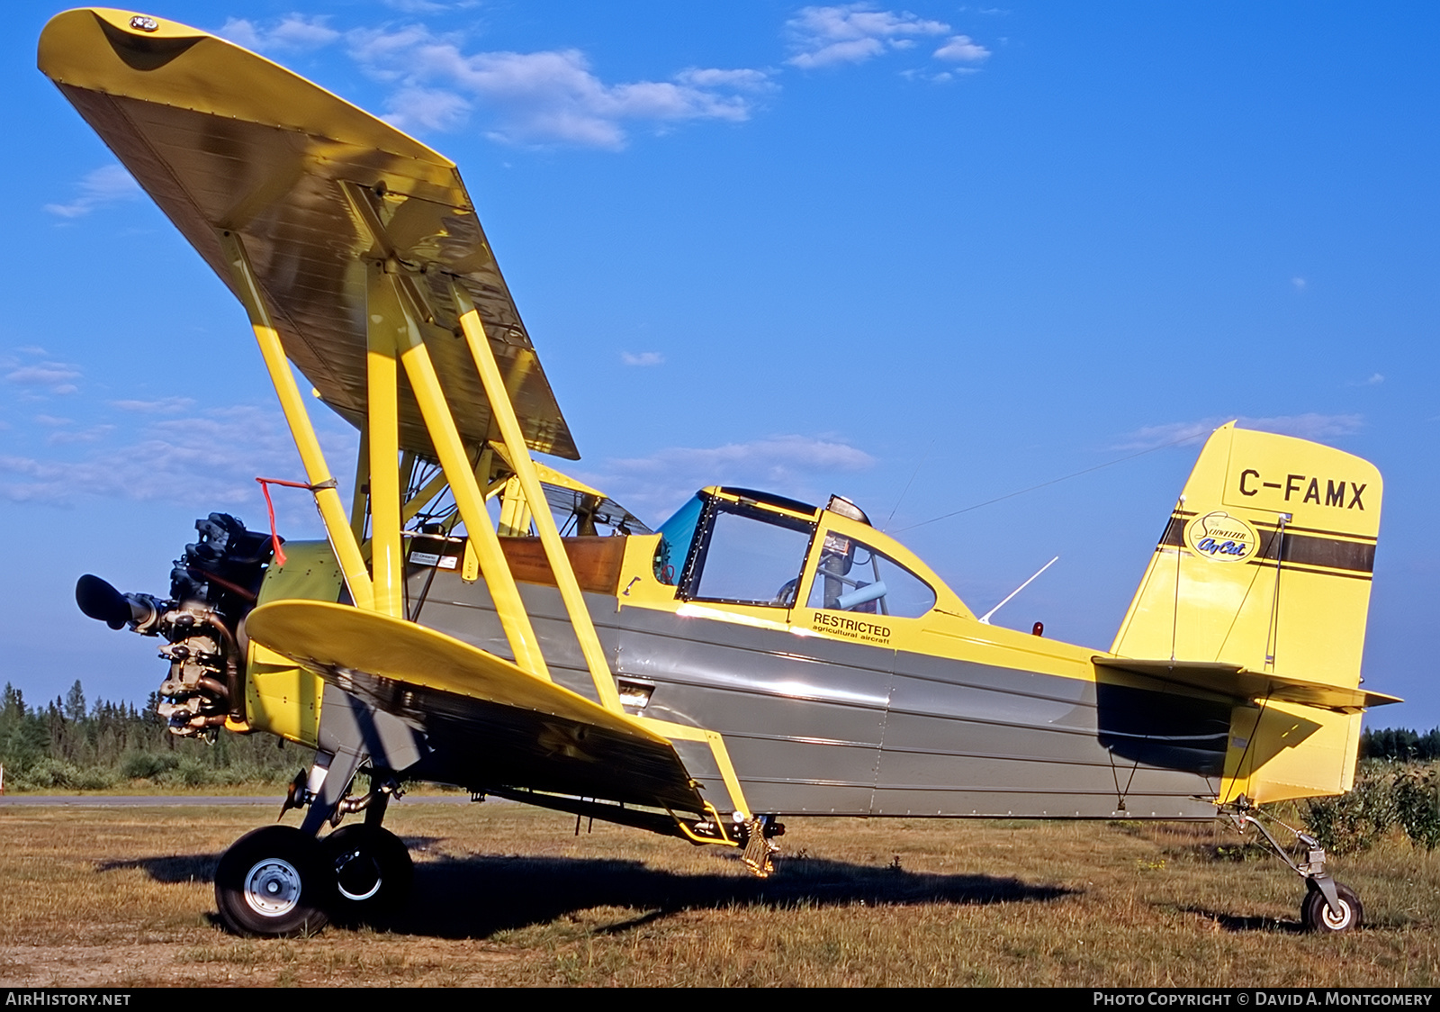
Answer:
[[638, 721], [433, 629], [328, 601], [272, 601], [245, 620], [252, 640], [323, 678], [364, 673], [500, 706], [670, 742]]

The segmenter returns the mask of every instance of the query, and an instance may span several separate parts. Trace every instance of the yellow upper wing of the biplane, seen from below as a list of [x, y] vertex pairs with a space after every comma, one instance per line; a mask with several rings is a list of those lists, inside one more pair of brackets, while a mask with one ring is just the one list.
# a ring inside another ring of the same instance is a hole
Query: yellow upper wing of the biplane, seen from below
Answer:
[[[343, 417], [366, 414], [363, 265], [393, 259], [465, 443], [485, 441], [491, 411], [452, 336], [451, 278], [480, 309], [526, 441], [579, 457], [449, 159], [262, 56], [145, 14], [58, 14], [39, 66], [232, 287], [216, 231], [242, 236], [285, 353]], [[433, 456], [408, 388], [400, 445]]]

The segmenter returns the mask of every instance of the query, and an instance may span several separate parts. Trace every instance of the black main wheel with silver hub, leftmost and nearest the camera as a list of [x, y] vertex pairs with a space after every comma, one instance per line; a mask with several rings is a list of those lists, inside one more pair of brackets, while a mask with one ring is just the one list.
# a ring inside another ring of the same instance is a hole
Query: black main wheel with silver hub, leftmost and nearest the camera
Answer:
[[265, 826], [220, 858], [215, 902], [236, 934], [312, 934], [328, 920], [333, 881], [315, 838], [294, 826]]

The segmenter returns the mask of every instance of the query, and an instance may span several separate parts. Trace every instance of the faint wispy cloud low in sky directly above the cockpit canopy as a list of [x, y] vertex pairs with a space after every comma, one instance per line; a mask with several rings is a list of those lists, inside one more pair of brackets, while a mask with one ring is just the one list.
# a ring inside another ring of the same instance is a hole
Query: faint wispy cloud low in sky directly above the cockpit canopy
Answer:
[[662, 520], [696, 489], [734, 484], [799, 499], [828, 494], [827, 479], [861, 471], [876, 458], [838, 438], [773, 435], [721, 447], [667, 447], [647, 457], [611, 458], [590, 481], [642, 519]]

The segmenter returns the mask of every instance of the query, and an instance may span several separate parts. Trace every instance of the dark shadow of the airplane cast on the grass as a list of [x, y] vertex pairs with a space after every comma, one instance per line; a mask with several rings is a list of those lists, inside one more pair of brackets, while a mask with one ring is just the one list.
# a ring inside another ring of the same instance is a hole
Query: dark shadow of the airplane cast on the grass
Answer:
[[[406, 838], [420, 849], [422, 838]], [[217, 853], [107, 861], [96, 871], [140, 868], [156, 882], [212, 882]], [[1071, 889], [996, 875], [936, 875], [844, 861], [791, 858], [775, 875], [755, 878], [739, 858], [733, 868], [677, 874], [639, 861], [481, 855], [416, 864], [406, 910], [386, 923], [397, 934], [484, 938], [546, 924], [593, 907], [622, 907], [635, 917], [606, 931], [625, 931], [683, 910], [724, 907], [851, 907], [912, 904], [1048, 902]]]

